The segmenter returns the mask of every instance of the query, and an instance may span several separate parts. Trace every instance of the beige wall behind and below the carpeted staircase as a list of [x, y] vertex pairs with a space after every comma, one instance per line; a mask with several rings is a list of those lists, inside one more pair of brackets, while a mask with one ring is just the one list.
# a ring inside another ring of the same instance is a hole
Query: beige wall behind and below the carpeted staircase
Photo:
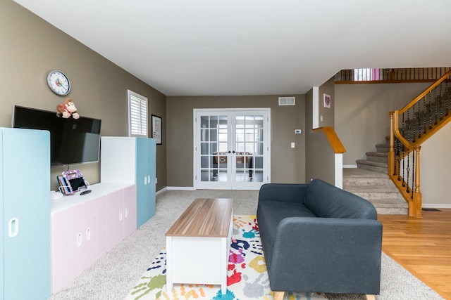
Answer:
[[[355, 165], [376, 151], [376, 143], [385, 143], [390, 134], [388, 112], [399, 110], [431, 83], [420, 84], [337, 84], [335, 85], [335, 131], [347, 152], [343, 164]], [[451, 124], [421, 145], [421, 193], [424, 207], [451, 207], [447, 192], [451, 162]]]

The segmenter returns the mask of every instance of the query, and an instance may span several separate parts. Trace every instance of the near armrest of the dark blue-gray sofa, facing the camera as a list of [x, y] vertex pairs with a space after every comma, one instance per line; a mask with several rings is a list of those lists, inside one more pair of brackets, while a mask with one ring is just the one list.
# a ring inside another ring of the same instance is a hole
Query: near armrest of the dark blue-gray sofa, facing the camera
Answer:
[[368, 219], [286, 218], [273, 245], [273, 291], [379, 294], [382, 224]]

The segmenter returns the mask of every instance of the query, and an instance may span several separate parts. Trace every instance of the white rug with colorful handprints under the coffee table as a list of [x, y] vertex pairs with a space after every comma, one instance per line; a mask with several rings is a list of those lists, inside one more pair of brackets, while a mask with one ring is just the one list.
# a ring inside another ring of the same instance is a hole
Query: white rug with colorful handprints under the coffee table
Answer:
[[[193, 258], [194, 259], [194, 258]], [[199, 258], [202, 250], [199, 249]], [[255, 216], [233, 216], [233, 235], [228, 262], [227, 293], [220, 285], [177, 285], [166, 291], [166, 250], [152, 262], [126, 300], [273, 300]], [[327, 299], [319, 293], [285, 293], [288, 300]]]

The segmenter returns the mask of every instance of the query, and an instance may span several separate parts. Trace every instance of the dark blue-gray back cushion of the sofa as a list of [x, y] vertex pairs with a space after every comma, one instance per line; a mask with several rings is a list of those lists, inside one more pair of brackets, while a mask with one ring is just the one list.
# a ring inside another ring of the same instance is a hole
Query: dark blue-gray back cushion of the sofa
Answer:
[[321, 218], [377, 219], [371, 202], [320, 179], [309, 183], [304, 205]]

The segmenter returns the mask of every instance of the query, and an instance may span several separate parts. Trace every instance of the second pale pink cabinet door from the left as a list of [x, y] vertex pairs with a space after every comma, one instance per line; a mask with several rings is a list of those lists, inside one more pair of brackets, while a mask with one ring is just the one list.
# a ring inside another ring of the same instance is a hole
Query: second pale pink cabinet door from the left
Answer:
[[87, 265], [101, 258], [106, 247], [106, 195], [85, 202], [85, 258]]

